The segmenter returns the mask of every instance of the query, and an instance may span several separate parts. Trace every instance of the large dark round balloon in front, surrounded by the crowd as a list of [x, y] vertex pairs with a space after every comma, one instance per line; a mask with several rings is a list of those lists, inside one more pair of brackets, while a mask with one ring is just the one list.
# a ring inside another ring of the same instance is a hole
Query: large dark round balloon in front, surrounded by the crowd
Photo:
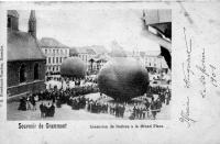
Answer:
[[148, 74], [136, 59], [118, 57], [100, 70], [98, 87], [114, 100], [128, 101], [146, 92]]

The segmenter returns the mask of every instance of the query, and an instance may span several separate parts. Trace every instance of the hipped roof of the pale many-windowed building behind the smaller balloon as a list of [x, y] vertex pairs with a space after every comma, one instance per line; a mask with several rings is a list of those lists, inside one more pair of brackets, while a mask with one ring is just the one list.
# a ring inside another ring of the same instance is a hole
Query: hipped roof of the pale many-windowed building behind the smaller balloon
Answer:
[[38, 41], [41, 47], [53, 47], [53, 48], [69, 48], [68, 46], [59, 43], [57, 40], [52, 37], [43, 37]]

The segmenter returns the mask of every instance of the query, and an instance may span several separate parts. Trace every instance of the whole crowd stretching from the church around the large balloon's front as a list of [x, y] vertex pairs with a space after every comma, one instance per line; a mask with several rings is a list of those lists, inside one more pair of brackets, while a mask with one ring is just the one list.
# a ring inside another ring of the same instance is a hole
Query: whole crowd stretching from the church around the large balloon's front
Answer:
[[[88, 93], [99, 92], [97, 85], [80, 86], [79, 81], [76, 81], [76, 84], [78, 87], [75, 88], [66, 88], [65, 90], [57, 88], [46, 89], [38, 93], [23, 97], [20, 100], [19, 110], [36, 110], [36, 102], [42, 101], [40, 104], [41, 118], [54, 117], [55, 108], [62, 108], [62, 104], [68, 104], [73, 110], [85, 109], [91, 113], [107, 113], [116, 118], [124, 118], [124, 113], [127, 113], [130, 120], [154, 120], [163, 104], [169, 104], [170, 101], [170, 90], [160, 86], [150, 86], [146, 95], [136, 98], [141, 102], [120, 103], [117, 101], [105, 101], [101, 93], [97, 100], [86, 98], [85, 96]], [[157, 97], [155, 98], [154, 96]]]

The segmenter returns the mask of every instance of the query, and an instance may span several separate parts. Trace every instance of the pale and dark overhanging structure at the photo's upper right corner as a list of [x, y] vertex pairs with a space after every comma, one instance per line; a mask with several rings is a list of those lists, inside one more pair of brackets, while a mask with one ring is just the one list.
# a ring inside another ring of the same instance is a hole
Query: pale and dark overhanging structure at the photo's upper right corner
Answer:
[[160, 44], [160, 55], [165, 58], [167, 66], [172, 69], [172, 10], [144, 10], [142, 20], [145, 36]]

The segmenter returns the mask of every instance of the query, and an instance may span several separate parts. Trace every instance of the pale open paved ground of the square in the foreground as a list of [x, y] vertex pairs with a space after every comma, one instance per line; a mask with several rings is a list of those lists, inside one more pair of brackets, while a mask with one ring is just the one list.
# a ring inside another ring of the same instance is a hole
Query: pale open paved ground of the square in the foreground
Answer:
[[[98, 99], [100, 97], [99, 93], [90, 93], [86, 97]], [[108, 102], [111, 98], [101, 99], [102, 101]], [[44, 101], [45, 103], [51, 101]], [[19, 102], [8, 103], [8, 120], [121, 120], [122, 118], [116, 118], [109, 113], [90, 113], [86, 110], [72, 110], [72, 108], [67, 104], [63, 104], [62, 108], [56, 108], [56, 112], [54, 118], [44, 118], [40, 117], [40, 106], [41, 102], [36, 102], [36, 111], [19, 111]], [[131, 106], [128, 106], [131, 107]], [[124, 120], [128, 120], [131, 112], [125, 111]], [[157, 114], [157, 120], [168, 120], [170, 114], [170, 104], [163, 106], [162, 111]]]

